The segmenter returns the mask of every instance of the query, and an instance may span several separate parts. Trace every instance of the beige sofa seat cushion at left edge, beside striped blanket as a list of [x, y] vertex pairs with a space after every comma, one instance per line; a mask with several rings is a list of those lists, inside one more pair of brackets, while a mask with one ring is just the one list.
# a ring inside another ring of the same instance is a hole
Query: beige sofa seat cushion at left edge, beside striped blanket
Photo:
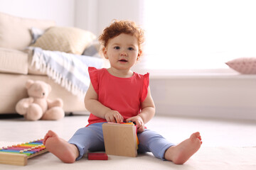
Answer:
[[0, 48], [0, 72], [28, 74], [28, 54]]

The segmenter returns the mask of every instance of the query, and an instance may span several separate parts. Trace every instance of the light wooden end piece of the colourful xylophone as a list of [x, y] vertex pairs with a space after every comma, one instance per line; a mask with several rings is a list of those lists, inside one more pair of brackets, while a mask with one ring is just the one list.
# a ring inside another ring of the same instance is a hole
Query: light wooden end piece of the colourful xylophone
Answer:
[[11, 154], [0, 152], [0, 164], [23, 165], [28, 164], [28, 156], [26, 154]]

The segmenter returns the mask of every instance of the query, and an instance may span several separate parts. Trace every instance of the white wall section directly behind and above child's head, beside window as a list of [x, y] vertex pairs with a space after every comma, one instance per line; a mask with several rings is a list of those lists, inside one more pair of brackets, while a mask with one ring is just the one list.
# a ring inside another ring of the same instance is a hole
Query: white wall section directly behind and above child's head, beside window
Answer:
[[114, 19], [141, 25], [142, 3], [142, 0], [76, 0], [75, 26], [100, 35]]

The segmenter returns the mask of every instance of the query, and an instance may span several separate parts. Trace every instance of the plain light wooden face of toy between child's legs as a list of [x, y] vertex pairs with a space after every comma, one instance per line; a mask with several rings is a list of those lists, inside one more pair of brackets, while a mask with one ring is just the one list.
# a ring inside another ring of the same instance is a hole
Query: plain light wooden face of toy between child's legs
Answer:
[[104, 123], [102, 130], [107, 154], [137, 157], [137, 135], [133, 124]]

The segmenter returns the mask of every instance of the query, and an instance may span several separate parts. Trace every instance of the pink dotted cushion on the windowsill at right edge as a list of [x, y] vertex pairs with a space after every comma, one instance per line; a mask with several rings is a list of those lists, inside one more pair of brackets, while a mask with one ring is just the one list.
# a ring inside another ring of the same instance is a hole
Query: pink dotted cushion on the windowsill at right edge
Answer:
[[240, 57], [225, 64], [241, 74], [256, 74], [256, 57]]

